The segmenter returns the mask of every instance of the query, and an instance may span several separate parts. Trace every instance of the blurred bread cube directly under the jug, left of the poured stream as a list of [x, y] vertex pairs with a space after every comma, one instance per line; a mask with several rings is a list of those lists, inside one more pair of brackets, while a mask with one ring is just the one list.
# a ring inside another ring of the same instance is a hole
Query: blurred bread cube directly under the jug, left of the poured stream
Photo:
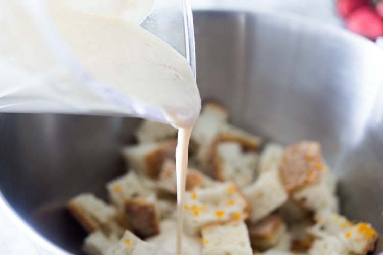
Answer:
[[178, 130], [170, 124], [143, 120], [135, 132], [138, 143], [156, 143], [177, 137]]

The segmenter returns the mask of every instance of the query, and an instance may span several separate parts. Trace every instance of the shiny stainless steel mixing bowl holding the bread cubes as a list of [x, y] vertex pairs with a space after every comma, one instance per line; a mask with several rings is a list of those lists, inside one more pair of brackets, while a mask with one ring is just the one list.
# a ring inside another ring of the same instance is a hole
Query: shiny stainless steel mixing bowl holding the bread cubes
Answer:
[[[203, 99], [231, 122], [283, 144], [314, 139], [339, 177], [342, 212], [383, 232], [383, 51], [338, 28], [289, 15], [195, 12]], [[125, 171], [119, 148], [138, 119], [0, 114], [2, 204], [44, 250], [79, 253], [85, 233], [64, 209]], [[31, 232], [28, 232], [31, 234]]]

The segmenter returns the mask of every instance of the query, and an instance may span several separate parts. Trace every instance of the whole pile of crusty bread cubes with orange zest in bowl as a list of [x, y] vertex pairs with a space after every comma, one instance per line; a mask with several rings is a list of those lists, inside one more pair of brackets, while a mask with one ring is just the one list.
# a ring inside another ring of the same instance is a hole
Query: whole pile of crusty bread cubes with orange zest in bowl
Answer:
[[[196, 237], [199, 254], [355, 255], [374, 249], [378, 235], [368, 223], [339, 215], [336, 179], [318, 142], [262, 144], [228, 117], [225, 107], [204, 104], [190, 140], [184, 232]], [[177, 130], [143, 121], [135, 136], [138, 143], [122, 149], [129, 170], [106, 184], [108, 202], [90, 193], [68, 202], [89, 232], [83, 245], [89, 255], [175, 249], [146, 240], [166, 234], [163, 223], [177, 218]], [[191, 252], [184, 249], [197, 254]]]

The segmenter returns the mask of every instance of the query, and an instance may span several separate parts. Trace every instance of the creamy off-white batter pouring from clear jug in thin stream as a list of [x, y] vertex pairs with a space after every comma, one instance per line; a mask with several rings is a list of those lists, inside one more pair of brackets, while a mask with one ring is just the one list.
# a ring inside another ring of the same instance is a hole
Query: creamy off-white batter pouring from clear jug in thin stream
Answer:
[[188, 144], [201, 109], [189, 63], [169, 44], [136, 24], [80, 12], [61, 0], [46, 2], [64, 40], [91, 75], [121, 93], [161, 108], [169, 122], [179, 128], [175, 248], [181, 254]]

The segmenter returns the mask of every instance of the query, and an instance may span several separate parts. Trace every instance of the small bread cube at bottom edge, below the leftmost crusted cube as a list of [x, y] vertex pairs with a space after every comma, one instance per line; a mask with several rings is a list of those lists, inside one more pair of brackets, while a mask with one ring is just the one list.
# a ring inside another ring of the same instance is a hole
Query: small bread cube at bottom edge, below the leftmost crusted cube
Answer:
[[104, 255], [117, 241], [118, 239], [109, 238], [101, 230], [96, 230], [85, 238], [82, 250], [87, 255]]

